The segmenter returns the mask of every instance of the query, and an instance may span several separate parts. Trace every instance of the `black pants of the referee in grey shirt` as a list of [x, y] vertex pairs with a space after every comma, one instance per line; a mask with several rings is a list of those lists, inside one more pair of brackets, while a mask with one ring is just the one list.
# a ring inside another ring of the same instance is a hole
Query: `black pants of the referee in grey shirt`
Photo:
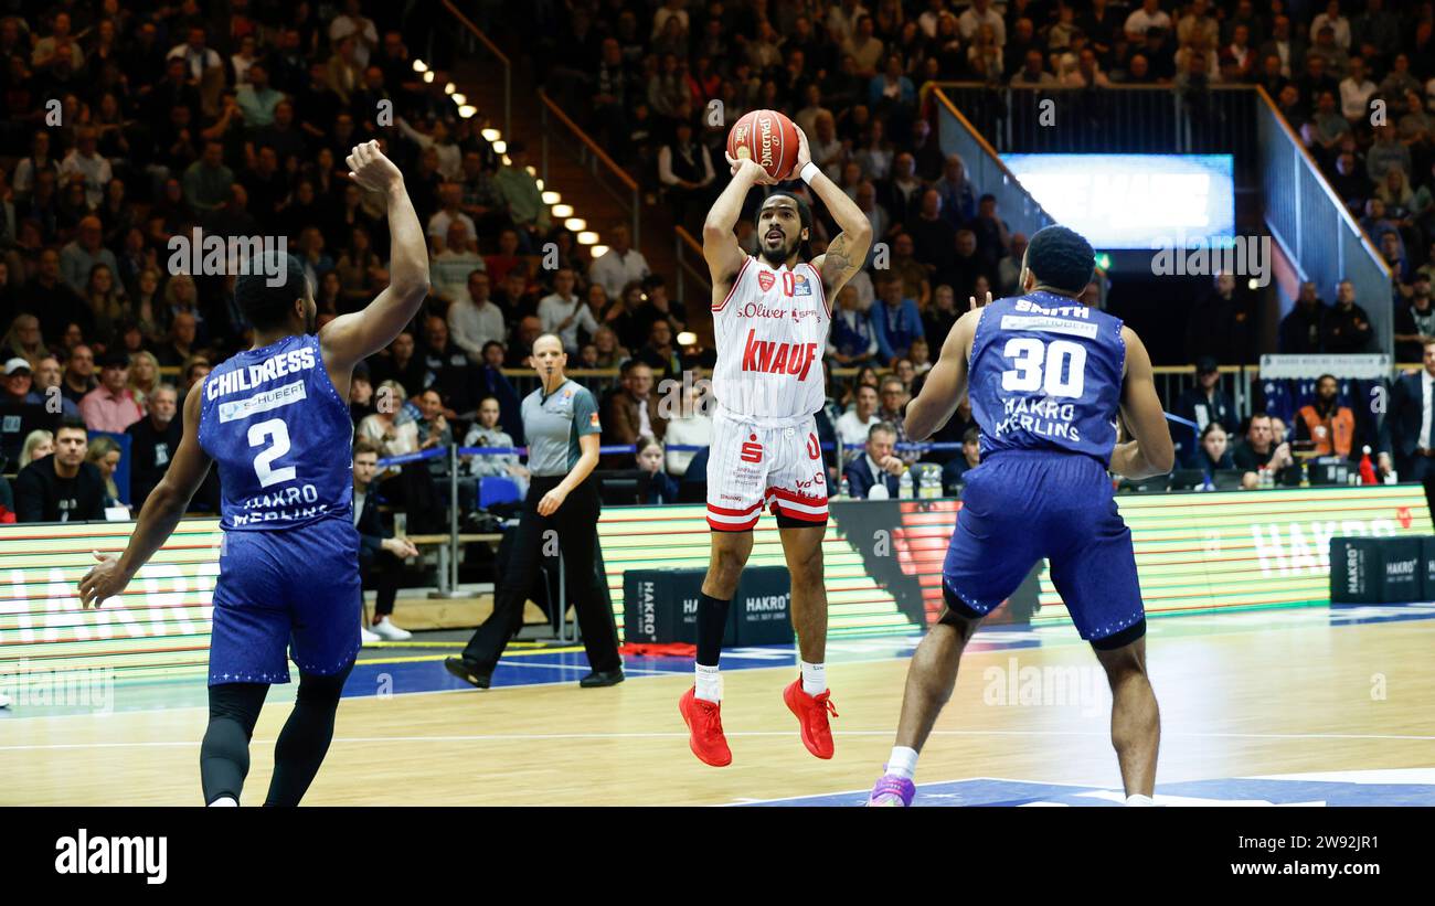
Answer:
[[[474, 661], [484, 672], [494, 671], [504, 648], [522, 628], [524, 602], [538, 578], [538, 568], [544, 562], [550, 568], [557, 568], [558, 550], [563, 552], [568, 596], [568, 601], [560, 606], [563, 612], [567, 612], [571, 602], [578, 612], [578, 629], [583, 632], [583, 647], [588, 651], [588, 664], [596, 671], [614, 671], [623, 665], [618, 658], [618, 632], [613, 622], [613, 605], [608, 601], [607, 588], [598, 583], [594, 571], [598, 545], [598, 482], [588, 477], [573, 489], [555, 513], [540, 516], [538, 502], [561, 480], [557, 476], [534, 476], [528, 486], [512, 561], [499, 579], [498, 592], [494, 595], [494, 612], [474, 632], [474, 638], [464, 648], [464, 657]], [[552, 550], [550, 530], [557, 532], [558, 550]]]

